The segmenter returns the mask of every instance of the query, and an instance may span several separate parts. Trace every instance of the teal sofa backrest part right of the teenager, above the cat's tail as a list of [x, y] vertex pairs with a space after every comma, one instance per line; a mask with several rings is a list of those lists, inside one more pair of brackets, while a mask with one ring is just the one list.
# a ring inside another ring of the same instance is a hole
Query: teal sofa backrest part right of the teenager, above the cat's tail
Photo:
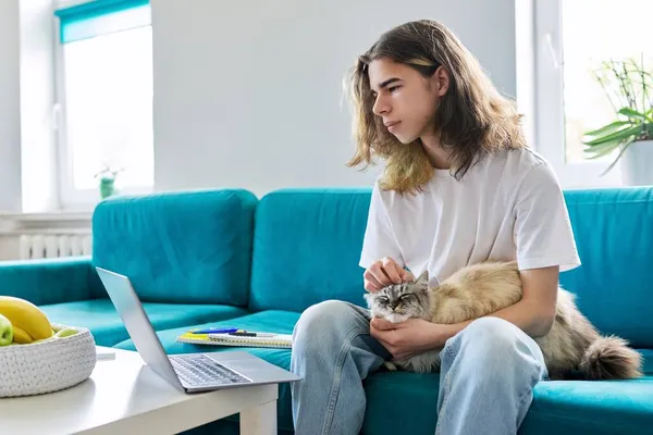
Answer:
[[582, 265], [560, 274], [604, 334], [653, 348], [653, 187], [565, 191]]

